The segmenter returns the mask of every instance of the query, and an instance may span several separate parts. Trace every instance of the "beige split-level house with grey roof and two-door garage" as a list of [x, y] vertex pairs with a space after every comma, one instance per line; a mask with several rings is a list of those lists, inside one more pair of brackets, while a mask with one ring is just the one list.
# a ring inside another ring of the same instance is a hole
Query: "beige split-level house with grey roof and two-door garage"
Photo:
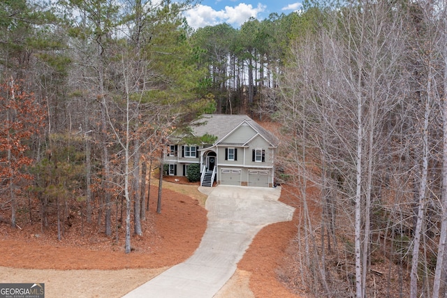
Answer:
[[212, 144], [186, 144], [171, 136], [164, 163], [168, 174], [186, 176], [192, 163], [200, 164], [200, 185], [274, 185], [274, 157], [278, 140], [246, 115], [205, 114], [191, 123], [195, 137], [213, 135]]

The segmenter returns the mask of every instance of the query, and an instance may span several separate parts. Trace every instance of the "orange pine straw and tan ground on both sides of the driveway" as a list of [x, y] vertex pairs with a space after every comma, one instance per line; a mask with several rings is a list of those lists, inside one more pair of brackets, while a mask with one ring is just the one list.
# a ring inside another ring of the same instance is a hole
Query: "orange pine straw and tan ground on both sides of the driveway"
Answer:
[[[32, 225], [20, 221], [22, 230], [1, 223], [0, 283], [45, 283], [49, 298], [121, 297], [186, 260], [206, 228], [206, 196], [198, 193], [197, 184], [183, 180], [163, 184], [161, 214], [155, 212], [157, 189], [152, 186], [144, 234], [132, 237], [129, 255], [124, 254], [124, 228], [119, 228], [116, 242], [115, 230], [113, 237], [106, 237], [95, 220], [81, 227], [78, 211], [71, 212], [71, 226], [66, 223], [61, 241], [55, 218], [45, 232], [40, 221]], [[0, 216], [8, 218], [5, 213]], [[216, 297], [299, 297], [277, 278], [280, 267], [290, 260], [287, 248], [296, 224], [295, 219], [263, 228]]]

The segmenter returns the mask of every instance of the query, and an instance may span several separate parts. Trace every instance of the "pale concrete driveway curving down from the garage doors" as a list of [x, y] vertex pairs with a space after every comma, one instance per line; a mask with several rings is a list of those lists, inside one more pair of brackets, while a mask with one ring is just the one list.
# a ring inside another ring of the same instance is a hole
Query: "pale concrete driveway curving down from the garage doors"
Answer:
[[213, 297], [265, 225], [291, 221], [293, 207], [278, 202], [281, 188], [200, 187], [208, 195], [207, 230], [191, 258], [124, 297]]

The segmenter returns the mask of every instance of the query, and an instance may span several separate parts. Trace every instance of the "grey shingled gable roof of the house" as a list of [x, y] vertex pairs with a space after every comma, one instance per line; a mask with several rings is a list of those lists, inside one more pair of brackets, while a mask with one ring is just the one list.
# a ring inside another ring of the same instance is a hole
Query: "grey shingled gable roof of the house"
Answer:
[[235, 131], [236, 128], [241, 126], [244, 122], [249, 124], [256, 132], [265, 138], [274, 147], [278, 144], [278, 139], [272, 133], [267, 131], [256, 121], [248, 117], [247, 115], [227, 115], [227, 114], [203, 114], [203, 116], [193, 121], [191, 128], [193, 134], [196, 136], [215, 135], [217, 137], [216, 144], [219, 143], [228, 134]]

